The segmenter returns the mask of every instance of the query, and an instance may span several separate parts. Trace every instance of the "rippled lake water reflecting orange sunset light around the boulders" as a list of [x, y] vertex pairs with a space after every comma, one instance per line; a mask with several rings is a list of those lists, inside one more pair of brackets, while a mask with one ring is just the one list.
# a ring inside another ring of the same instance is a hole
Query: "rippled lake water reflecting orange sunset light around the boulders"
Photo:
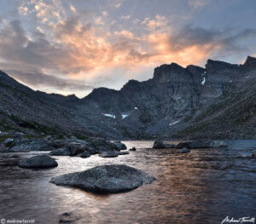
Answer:
[[[256, 216], [256, 141], [228, 141], [229, 148], [148, 149], [153, 141], [123, 141], [136, 152], [118, 158], [55, 157], [54, 169], [11, 165], [38, 152], [0, 155], [0, 219], [59, 223], [221, 223], [226, 216]], [[171, 141], [177, 143], [177, 141]], [[9, 166], [6, 166], [9, 163]], [[134, 191], [96, 195], [49, 183], [51, 177], [103, 164], [126, 164], [156, 181]]]

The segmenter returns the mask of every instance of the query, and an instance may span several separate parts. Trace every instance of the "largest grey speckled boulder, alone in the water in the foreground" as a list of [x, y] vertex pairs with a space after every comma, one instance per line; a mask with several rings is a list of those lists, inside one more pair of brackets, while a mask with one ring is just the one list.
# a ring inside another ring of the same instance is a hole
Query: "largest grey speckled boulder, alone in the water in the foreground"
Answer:
[[128, 192], [154, 181], [153, 176], [126, 165], [97, 166], [83, 172], [59, 175], [50, 180], [60, 186], [78, 187], [89, 192]]

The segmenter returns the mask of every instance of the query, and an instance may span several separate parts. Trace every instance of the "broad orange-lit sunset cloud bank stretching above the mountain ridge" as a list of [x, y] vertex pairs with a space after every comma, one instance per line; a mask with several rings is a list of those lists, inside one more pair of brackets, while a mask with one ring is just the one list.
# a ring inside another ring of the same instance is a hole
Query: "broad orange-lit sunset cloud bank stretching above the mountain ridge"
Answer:
[[[245, 41], [256, 36], [252, 29], [174, 28], [171, 17], [163, 14], [138, 19], [131, 11], [114, 17], [108, 8], [81, 13], [75, 2], [66, 3], [67, 12], [60, 0], [26, 3], [20, 5], [22, 24], [7, 20], [0, 26], [0, 61], [15, 78], [34, 87], [69, 91], [96, 87], [99, 80], [105, 85], [109, 77], [125, 82], [133, 73], [162, 63], [187, 66], [204, 63], [212, 55], [244, 52]], [[204, 3], [190, 4], [196, 9]], [[130, 14], [133, 20], [128, 20]], [[29, 24], [35, 25], [33, 32], [24, 23], [25, 15], [35, 18], [35, 24]], [[123, 20], [117, 20], [120, 17]]]

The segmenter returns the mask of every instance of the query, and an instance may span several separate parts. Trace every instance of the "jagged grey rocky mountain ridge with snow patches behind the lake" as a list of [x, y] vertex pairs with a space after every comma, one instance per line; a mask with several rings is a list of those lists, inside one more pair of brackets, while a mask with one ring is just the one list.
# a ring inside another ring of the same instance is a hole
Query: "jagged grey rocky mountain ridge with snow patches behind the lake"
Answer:
[[162, 65], [153, 78], [83, 99], [33, 91], [0, 73], [0, 130], [102, 135], [114, 139], [256, 138], [256, 59]]

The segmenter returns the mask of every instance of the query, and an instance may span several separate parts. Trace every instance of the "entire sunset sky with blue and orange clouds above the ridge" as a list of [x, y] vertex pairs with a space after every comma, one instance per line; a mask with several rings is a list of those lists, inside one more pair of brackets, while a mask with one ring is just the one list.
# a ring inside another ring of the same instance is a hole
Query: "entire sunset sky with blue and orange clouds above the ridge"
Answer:
[[255, 0], [1, 0], [0, 69], [32, 89], [88, 95], [154, 67], [256, 56]]

